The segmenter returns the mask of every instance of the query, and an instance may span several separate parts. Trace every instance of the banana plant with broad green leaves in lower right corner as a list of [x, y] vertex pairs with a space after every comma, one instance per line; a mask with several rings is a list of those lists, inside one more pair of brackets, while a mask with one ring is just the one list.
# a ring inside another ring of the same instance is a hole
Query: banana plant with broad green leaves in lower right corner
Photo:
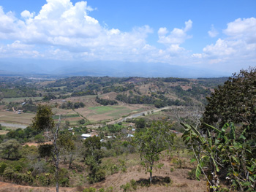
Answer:
[[[201, 174], [206, 177], [208, 191], [255, 191], [255, 153], [246, 142], [247, 128], [236, 137], [233, 123], [225, 123], [221, 129], [205, 124], [206, 134], [188, 124], [181, 125], [185, 128], [182, 138], [195, 155], [192, 161], [197, 161], [196, 178], [200, 180]], [[219, 177], [226, 172], [227, 188], [221, 188]]]

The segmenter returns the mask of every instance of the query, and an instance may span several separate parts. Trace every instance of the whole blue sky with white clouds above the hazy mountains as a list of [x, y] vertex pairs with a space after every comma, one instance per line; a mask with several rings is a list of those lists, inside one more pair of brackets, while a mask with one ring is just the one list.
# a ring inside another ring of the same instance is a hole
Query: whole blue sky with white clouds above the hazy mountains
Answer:
[[256, 1], [1, 0], [0, 60], [256, 66]]

